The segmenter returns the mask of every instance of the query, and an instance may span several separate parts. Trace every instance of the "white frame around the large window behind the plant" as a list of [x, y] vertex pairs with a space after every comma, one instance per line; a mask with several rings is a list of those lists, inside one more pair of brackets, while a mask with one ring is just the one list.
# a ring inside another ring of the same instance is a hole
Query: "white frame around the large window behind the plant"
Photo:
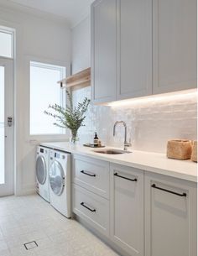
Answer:
[[[57, 134], [57, 133], [51, 133], [51, 134], [30, 134], [30, 62], [36, 62], [48, 65], [57, 65], [57, 66], [63, 66], [65, 67], [65, 76], [68, 76], [70, 74], [70, 63], [60, 60], [49, 60], [45, 58], [38, 58], [35, 56], [29, 56], [27, 55], [25, 58], [25, 81], [29, 86], [26, 86], [27, 90], [27, 101], [28, 101], [28, 107], [25, 110], [25, 116], [27, 124], [26, 126], [26, 140], [29, 141], [30, 144], [38, 144], [39, 142], [53, 142], [53, 141], [69, 141], [70, 138], [70, 131], [65, 128], [65, 133], [63, 134]], [[57, 86], [59, 86], [57, 84]], [[26, 94], [26, 93], [25, 93]], [[63, 93], [64, 95], [64, 93]], [[65, 93], [65, 101], [66, 101], [66, 93]]]

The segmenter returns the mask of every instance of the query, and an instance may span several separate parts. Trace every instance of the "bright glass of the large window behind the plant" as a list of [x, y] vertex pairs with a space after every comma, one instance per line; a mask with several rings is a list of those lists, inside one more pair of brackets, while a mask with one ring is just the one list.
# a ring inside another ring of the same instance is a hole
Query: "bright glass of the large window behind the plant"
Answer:
[[30, 61], [30, 134], [65, 134], [55, 119], [44, 114], [49, 105], [65, 106], [65, 91], [57, 81], [65, 77], [65, 67]]

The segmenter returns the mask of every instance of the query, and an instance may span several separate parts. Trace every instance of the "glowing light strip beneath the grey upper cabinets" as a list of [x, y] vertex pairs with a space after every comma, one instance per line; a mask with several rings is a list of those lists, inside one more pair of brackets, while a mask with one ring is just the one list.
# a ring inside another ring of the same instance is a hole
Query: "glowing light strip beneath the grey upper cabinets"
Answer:
[[197, 97], [197, 90], [190, 89], [186, 91], [175, 91], [158, 95], [151, 95], [147, 97], [138, 97], [128, 100], [122, 100], [117, 102], [109, 102], [107, 106], [110, 107], [132, 107], [137, 105], [148, 104], [149, 102], [176, 102], [182, 99], [190, 100]]

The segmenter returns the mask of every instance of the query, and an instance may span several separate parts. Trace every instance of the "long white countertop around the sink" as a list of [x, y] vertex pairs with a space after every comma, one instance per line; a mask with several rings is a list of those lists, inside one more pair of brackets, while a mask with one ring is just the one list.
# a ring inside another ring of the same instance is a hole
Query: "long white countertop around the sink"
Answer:
[[[167, 159], [165, 154], [133, 149], [128, 149], [132, 151], [131, 154], [99, 154], [94, 152], [98, 149], [84, 147], [79, 144], [73, 145], [66, 142], [42, 143], [41, 145], [51, 149], [66, 151], [71, 154], [81, 154], [119, 165], [126, 165], [161, 175], [169, 175], [171, 177], [197, 182], [197, 164], [195, 162], [190, 160]], [[104, 149], [108, 148], [112, 149], [113, 147], [105, 147]]]

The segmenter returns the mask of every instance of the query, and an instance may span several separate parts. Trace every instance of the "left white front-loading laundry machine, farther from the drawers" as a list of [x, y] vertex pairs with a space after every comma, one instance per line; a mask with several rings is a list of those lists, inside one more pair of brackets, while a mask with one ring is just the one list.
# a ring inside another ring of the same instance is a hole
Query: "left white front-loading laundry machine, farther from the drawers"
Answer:
[[36, 155], [36, 190], [40, 196], [50, 202], [49, 159], [50, 149], [38, 146]]

